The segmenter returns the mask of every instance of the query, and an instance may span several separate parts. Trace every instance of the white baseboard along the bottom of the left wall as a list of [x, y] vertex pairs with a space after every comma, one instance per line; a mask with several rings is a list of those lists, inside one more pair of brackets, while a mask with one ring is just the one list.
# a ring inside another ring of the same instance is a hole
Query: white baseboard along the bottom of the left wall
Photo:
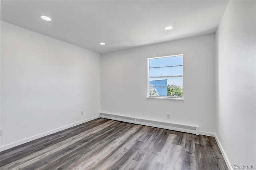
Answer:
[[47, 136], [49, 134], [53, 134], [53, 133], [59, 132], [61, 130], [65, 130], [65, 129], [70, 128], [70, 127], [74, 127], [76, 125], [80, 125], [82, 123], [86, 123], [88, 121], [92, 121], [92, 120], [97, 119], [97, 118], [99, 118], [99, 116], [94, 116], [94, 117], [91, 117], [91, 118], [88, 118], [88, 119], [85, 119], [85, 120], [82, 120], [82, 121], [79, 121], [79, 122], [76, 122], [76, 123], [72, 123], [72, 124], [69, 124], [69, 125], [66, 125], [66, 126], [63, 126], [63, 127], [59, 127], [59, 128], [53, 129], [53, 130], [49, 130], [47, 132], [36, 134], [36, 135], [28, 137], [28, 138], [24, 138], [22, 140], [18, 140], [16, 142], [12, 142], [12, 143], [6, 144], [4, 146], [0, 146], [0, 151], [6, 150], [6, 149], [9, 149], [9, 148], [13, 148], [13, 147], [18, 146], [20, 144], [24, 144], [26, 142], [30, 142], [32, 140], [35, 140], [35, 139]]

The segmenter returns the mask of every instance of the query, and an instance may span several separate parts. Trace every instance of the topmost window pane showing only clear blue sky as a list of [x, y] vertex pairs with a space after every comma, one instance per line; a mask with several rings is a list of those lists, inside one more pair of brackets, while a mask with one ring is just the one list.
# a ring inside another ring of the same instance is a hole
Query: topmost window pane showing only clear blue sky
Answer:
[[149, 59], [149, 67], [166, 67], [174, 65], [183, 65], [183, 55], [177, 57]]

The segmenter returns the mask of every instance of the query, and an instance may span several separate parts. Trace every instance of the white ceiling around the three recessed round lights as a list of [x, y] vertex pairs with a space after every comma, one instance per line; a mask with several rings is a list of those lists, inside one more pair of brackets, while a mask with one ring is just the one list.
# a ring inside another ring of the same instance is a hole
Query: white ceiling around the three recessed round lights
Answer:
[[[214, 33], [227, 4], [227, 0], [1, 0], [1, 20], [106, 53]], [[174, 28], [164, 30], [169, 25]]]

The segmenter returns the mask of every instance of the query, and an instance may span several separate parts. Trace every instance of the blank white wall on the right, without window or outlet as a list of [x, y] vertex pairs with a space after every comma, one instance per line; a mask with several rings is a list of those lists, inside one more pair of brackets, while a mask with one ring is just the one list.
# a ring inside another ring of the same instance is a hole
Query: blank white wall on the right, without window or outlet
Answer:
[[216, 135], [229, 164], [256, 167], [256, 1], [233, 1], [216, 32]]

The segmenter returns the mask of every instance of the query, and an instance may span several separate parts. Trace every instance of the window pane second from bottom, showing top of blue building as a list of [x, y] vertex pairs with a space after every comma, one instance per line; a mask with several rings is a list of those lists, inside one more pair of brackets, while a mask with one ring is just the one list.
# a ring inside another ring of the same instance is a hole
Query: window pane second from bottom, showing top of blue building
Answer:
[[183, 87], [183, 77], [150, 78], [149, 84], [153, 87], [166, 87], [168, 85]]

